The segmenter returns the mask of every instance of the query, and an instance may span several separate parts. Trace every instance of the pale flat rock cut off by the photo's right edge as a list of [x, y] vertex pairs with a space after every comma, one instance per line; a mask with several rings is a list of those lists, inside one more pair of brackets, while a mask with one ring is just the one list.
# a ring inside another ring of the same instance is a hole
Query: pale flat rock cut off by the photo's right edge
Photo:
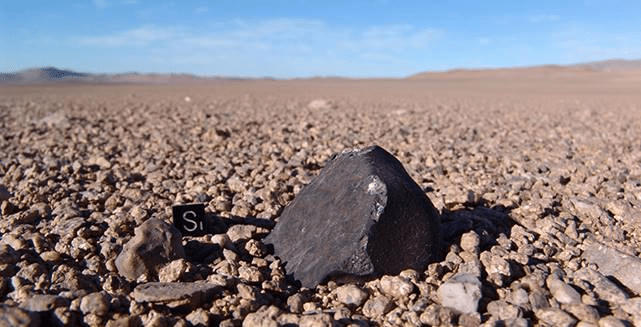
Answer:
[[625, 287], [641, 295], [641, 259], [597, 242], [587, 246], [583, 257], [596, 264], [601, 274], [616, 278]]

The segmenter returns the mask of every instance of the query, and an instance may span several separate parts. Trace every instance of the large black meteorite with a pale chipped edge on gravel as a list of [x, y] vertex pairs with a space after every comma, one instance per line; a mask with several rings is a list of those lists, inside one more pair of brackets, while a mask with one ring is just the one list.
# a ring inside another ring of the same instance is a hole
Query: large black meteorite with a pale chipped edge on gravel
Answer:
[[422, 270], [439, 254], [438, 212], [378, 146], [334, 156], [265, 239], [304, 287], [328, 277]]

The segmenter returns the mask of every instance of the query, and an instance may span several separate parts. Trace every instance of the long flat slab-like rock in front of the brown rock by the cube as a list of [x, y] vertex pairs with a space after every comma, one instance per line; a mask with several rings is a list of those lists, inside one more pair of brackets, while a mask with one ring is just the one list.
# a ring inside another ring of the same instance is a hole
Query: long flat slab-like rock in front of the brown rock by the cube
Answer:
[[211, 283], [162, 283], [152, 282], [136, 286], [132, 298], [137, 302], [162, 303], [170, 308], [196, 307], [222, 291]]

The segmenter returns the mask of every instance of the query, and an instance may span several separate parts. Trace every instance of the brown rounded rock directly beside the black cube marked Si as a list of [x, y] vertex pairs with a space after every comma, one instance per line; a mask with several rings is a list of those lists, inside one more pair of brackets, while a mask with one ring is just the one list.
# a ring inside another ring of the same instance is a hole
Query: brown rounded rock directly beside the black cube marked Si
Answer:
[[175, 227], [162, 220], [145, 221], [116, 258], [118, 273], [129, 280], [143, 274], [156, 276], [163, 265], [185, 257], [181, 238]]

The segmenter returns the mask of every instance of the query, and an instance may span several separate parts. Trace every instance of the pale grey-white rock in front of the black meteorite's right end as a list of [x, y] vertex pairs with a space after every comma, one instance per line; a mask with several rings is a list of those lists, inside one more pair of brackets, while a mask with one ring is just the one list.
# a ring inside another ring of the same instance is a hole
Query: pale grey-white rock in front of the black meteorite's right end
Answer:
[[478, 309], [481, 299], [481, 282], [471, 274], [456, 274], [438, 288], [441, 305], [460, 313]]

